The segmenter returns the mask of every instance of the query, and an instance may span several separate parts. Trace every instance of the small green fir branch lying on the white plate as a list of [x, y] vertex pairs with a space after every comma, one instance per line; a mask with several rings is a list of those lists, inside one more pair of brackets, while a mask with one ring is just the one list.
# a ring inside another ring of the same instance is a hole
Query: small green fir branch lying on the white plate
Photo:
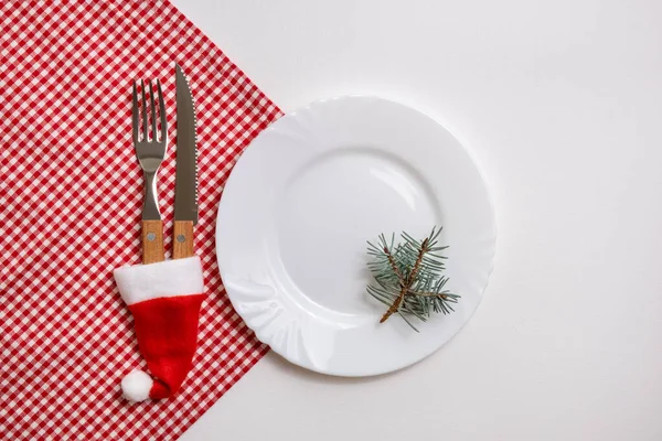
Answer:
[[448, 277], [441, 275], [446, 257], [440, 251], [448, 247], [437, 245], [440, 234], [441, 228], [435, 227], [423, 240], [403, 233], [403, 243], [398, 245], [395, 245], [395, 235], [391, 241], [380, 235], [377, 245], [367, 243], [367, 254], [372, 256], [369, 268], [377, 283], [369, 286], [367, 293], [388, 305], [380, 323], [398, 313], [418, 331], [406, 314], [425, 322], [431, 312], [455, 311], [451, 304], [457, 303], [460, 295], [444, 289]]

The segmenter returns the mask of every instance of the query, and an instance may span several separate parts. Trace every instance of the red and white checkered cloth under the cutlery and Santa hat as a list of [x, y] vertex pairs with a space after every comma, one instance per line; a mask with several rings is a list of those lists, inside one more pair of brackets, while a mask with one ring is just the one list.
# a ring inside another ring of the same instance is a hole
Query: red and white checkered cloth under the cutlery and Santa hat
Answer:
[[[237, 155], [280, 111], [168, 1], [3, 1], [0, 29], [0, 439], [174, 439], [267, 351], [224, 293], [214, 220]], [[209, 295], [182, 390], [131, 406], [119, 384], [143, 362], [111, 277], [140, 261], [130, 86], [164, 87], [170, 248], [174, 62], [197, 107]]]

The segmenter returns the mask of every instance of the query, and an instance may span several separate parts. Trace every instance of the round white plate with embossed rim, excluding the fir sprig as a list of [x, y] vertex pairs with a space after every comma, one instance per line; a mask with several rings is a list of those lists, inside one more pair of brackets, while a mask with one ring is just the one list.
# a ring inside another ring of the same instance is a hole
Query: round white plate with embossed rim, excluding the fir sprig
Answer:
[[[413, 331], [365, 287], [367, 239], [444, 226], [450, 315]], [[420, 361], [469, 320], [488, 283], [494, 214], [481, 175], [439, 123], [369, 97], [319, 101], [263, 131], [221, 198], [216, 254], [257, 337], [324, 374], [366, 376]]]

